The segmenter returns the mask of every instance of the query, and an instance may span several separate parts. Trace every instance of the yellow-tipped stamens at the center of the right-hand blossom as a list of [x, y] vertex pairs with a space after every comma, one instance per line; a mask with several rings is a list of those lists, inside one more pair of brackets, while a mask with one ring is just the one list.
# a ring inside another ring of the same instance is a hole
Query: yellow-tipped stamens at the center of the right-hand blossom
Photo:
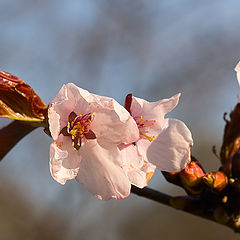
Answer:
[[152, 142], [156, 136], [149, 136], [146, 128], [154, 126], [154, 124], [156, 123], [156, 120], [148, 120], [148, 119], [144, 120], [143, 116], [136, 117], [134, 118], [134, 120], [137, 123], [140, 137]]

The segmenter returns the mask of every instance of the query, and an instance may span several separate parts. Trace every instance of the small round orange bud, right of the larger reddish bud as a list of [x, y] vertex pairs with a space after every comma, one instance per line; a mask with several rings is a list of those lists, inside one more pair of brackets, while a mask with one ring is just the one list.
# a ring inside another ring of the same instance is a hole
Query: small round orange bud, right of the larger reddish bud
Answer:
[[226, 174], [220, 171], [205, 174], [203, 181], [216, 192], [221, 192], [228, 185]]

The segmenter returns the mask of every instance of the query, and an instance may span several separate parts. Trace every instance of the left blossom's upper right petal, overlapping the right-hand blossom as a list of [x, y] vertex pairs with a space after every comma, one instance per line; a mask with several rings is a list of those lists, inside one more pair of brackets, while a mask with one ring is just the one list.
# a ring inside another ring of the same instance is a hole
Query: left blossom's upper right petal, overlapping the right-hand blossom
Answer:
[[132, 143], [139, 138], [139, 131], [128, 111], [112, 98], [95, 96], [98, 108], [91, 128], [99, 143]]

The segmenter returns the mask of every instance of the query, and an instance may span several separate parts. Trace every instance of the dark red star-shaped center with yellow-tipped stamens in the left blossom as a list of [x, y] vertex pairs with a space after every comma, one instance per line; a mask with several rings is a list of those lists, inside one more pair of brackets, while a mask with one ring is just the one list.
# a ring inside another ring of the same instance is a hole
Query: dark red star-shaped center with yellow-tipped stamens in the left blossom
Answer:
[[64, 136], [70, 136], [73, 147], [79, 150], [82, 141], [88, 142], [88, 139], [96, 138], [95, 133], [90, 129], [93, 118], [94, 114], [92, 113], [77, 115], [75, 112], [71, 112], [68, 116], [67, 126], [60, 133]]

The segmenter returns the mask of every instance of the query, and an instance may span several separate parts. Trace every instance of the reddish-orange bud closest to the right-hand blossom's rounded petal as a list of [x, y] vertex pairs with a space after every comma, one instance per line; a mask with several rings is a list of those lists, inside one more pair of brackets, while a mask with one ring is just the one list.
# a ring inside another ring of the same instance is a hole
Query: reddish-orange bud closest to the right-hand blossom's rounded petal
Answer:
[[202, 192], [202, 177], [204, 176], [204, 172], [196, 162], [190, 162], [179, 175], [182, 185], [188, 193], [199, 194]]

